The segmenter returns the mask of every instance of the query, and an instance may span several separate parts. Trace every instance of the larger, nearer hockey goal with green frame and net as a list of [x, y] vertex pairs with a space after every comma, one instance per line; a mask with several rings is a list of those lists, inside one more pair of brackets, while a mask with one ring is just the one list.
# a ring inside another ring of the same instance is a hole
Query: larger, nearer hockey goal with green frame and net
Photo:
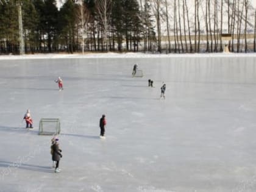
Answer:
[[59, 135], [60, 119], [40, 119], [38, 135]]

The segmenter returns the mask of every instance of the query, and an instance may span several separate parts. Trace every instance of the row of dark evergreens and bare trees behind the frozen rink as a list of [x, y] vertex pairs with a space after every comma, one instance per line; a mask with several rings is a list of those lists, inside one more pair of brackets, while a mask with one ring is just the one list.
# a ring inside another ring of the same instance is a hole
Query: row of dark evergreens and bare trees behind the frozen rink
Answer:
[[65, 0], [59, 8], [55, 0], [5, 0], [0, 54], [19, 52], [18, 4], [26, 53], [221, 52], [224, 33], [231, 51], [256, 52], [249, 0]]

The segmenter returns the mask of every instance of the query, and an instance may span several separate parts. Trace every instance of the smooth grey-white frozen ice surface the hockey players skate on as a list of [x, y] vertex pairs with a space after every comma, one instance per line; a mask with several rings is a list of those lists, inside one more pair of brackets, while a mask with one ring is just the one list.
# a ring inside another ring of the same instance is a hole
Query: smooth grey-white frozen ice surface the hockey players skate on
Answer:
[[[254, 54], [110, 56], [2, 57], [0, 191], [256, 191]], [[40, 118], [60, 118], [61, 173]]]

